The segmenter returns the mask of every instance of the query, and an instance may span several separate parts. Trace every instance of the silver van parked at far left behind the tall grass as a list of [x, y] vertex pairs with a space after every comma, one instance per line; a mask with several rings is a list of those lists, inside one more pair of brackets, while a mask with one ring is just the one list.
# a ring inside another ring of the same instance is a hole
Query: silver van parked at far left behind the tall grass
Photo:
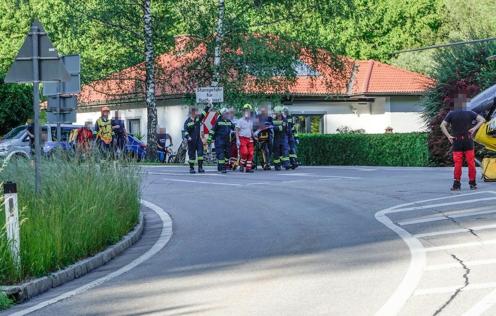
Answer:
[[[69, 133], [75, 128], [81, 127], [80, 125], [61, 125], [61, 146], [62, 148], [69, 150], [68, 145]], [[46, 134], [46, 142], [43, 146], [43, 153], [46, 156], [50, 156], [55, 148], [57, 148], [57, 125], [55, 124], [45, 124], [42, 126], [43, 129], [48, 130]], [[0, 140], [0, 159], [6, 157], [29, 157], [31, 149], [29, 147], [29, 136], [26, 132], [27, 126], [17, 126], [8, 132]]]

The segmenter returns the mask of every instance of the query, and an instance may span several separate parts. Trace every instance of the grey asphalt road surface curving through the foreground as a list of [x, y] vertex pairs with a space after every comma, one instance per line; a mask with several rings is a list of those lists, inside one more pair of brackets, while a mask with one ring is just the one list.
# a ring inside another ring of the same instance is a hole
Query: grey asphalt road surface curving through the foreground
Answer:
[[[496, 315], [495, 184], [451, 192], [449, 168], [206, 170], [143, 168], [142, 198], [173, 221], [168, 244], [30, 315]], [[2, 315], [149, 251], [162, 222], [144, 212], [122, 256]]]

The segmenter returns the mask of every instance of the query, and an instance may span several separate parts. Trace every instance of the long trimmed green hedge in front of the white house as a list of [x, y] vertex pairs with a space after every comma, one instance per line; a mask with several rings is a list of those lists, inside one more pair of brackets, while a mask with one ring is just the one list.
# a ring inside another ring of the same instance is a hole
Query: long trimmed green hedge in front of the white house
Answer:
[[306, 166], [402, 166], [429, 163], [428, 133], [300, 134], [298, 160]]

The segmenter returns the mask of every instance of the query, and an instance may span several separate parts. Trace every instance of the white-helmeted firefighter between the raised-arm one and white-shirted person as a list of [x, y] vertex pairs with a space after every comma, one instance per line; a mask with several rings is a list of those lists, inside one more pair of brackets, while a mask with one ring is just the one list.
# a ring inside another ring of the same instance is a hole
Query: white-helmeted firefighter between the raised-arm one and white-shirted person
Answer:
[[236, 126], [228, 119], [229, 110], [227, 108], [222, 108], [220, 114], [221, 117], [215, 121], [208, 133], [207, 143], [211, 144], [212, 141], [215, 141], [217, 170], [227, 173], [226, 168], [229, 168], [229, 159], [231, 158], [231, 130], [235, 129]]

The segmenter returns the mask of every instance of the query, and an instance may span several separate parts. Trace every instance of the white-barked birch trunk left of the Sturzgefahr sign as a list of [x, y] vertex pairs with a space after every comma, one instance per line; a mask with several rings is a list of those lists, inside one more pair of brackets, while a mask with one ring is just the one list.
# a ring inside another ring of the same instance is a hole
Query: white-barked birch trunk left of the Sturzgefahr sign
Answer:
[[143, 22], [145, 42], [145, 100], [147, 113], [147, 150], [146, 158], [155, 160], [157, 151], [155, 143], [157, 139], [157, 101], [155, 98], [155, 59], [153, 55], [153, 29], [151, 0], [143, 1]]

